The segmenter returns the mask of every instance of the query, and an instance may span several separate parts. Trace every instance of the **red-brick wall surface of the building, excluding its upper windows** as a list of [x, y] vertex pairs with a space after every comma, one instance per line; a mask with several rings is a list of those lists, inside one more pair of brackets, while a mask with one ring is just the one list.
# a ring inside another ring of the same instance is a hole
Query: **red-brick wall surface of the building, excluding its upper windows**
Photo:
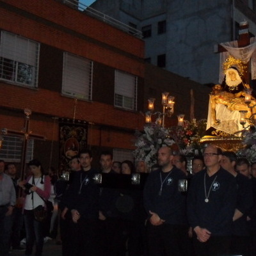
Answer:
[[[115, 70], [138, 77], [143, 95], [144, 42], [58, 1], [1, 1], [0, 29], [40, 42], [38, 88], [0, 81], [0, 127], [20, 131], [24, 108], [32, 110], [31, 132], [46, 137], [35, 141], [35, 157], [58, 167], [58, 118], [88, 122], [88, 147], [134, 148], [135, 129], [142, 129], [143, 100], [138, 111], [114, 107]], [[92, 100], [61, 94], [63, 52], [93, 61]]]

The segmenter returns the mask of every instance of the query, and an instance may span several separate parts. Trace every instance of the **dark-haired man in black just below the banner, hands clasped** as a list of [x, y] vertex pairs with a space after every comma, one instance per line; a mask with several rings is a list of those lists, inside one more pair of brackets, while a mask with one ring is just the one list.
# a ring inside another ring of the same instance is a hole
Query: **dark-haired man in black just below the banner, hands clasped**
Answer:
[[99, 218], [99, 186], [95, 184], [92, 153], [81, 150], [81, 171], [74, 176], [68, 189], [67, 208], [72, 214], [71, 256], [98, 256], [97, 233]]

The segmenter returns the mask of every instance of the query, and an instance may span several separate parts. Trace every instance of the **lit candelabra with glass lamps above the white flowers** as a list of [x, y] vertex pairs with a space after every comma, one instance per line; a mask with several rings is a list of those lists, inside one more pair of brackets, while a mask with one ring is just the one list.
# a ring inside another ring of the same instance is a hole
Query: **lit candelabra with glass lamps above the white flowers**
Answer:
[[150, 123], [151, 122], [151, 116], [152, 115], [157, 115], [156, 118], [156, 124], [162, 125], [164, 127], [164, 118], [165, 116], [171, 117], [173, 115], [174, 111], [174, 97], [169, 96], [168, 92], [162, 93], [162, 105], [163, 105], [163, 112], [155, 112], [152, 113], [154, 110], [154, 102], [156, 99], [150, 98], [148, 99], [148, 111], [145, 114], [145, 122]]

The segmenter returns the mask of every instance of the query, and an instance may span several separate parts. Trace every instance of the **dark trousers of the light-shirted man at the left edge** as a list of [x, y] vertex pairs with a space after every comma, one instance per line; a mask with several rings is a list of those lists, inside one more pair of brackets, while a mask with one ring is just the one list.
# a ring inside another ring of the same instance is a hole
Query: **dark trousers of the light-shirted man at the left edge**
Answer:
[[12, 215], [5, 216], [7, 211], [8, 206], [0, 207], [0, 256], [9, 255]]

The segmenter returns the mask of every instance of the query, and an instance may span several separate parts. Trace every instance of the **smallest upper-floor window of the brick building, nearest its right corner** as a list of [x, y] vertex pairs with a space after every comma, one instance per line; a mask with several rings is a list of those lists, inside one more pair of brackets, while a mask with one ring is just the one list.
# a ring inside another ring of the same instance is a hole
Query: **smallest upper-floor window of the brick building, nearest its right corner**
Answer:
[[137, 77], [125, 72], [115, 71], [115, 106], [136, 110]]

